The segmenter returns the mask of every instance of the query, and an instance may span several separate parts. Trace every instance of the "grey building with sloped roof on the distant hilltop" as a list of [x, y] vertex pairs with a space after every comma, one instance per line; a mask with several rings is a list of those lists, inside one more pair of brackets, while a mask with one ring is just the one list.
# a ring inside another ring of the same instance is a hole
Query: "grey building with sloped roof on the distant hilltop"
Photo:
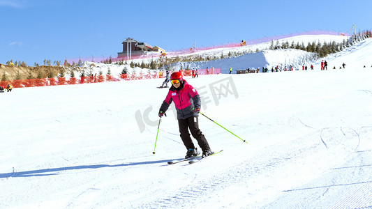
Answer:
[[161, 47], [152, 47], [145, 42], [138, 42], [133, 38], [127, 38], [123, 44], [123, 52], [118, 52], [117, 57], [131, 57], [137, 55], [147, 54], [147, 52], [165, 52]]

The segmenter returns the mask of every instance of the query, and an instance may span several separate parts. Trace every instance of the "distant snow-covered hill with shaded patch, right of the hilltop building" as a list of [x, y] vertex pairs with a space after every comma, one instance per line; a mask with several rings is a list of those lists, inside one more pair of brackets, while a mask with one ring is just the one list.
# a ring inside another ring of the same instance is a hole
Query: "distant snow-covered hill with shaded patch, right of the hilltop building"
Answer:
[[[332, 36], [332, 35], [303, 35], [303, 36], [294, 36], [291, 38], [283, 38], [281, 40], [273, 40], [274, 45], [282, 45], [283, 42], [288, 42], [292, 44], [294, 42], [304, 43], [306, 46], [308, 43], [320, 42], [323, 44], [324, 42], [343, 42], [343, 40], [347, 40], [348, 36]], [[246, 47], [235, 47], [230, 49], [216, 49], [211, 50], [210, 52], [200, 52], [204, 56], [221, 56], [221, 51], [224, 50], [223, 54], [226, 56], [229, 52], [231, 53], [239, 53], [239, 52], [255, 52], [244, 54], [242, 56], [233, 56], [226, 59], [218, 59], [214, 61], [207, 61], [207, 62], [196, 62], [191, 63], [191, 65], [195, 65], [196, 68], [205, 69], [205, 68], [221, 68], [222, 73], [229, 73], [230, 67], [233, 69], [233, 73], [235, 70], [245, 70], [247, 68], [250, 69], [257, 69], [260, 68], [260, 72], [262, 72], [262, 67], [267, 67], [269, 70], [271, 68], [275, 68], [277, 65], [279, 67], [285, 68], [285, 66], [292, 65], [294, 68], [302, 69], [302, 65], [308, 65], [310, 67], [311, 64], [314, 65], [314, 53], [304, 52], [298, 49], [277, 49], [277, 50], [270, 50], [269, 47], [271, 42], [265, 42], [258, 45], [248, 45]], [[262, 50], [260, 52], [256, 52], [256, 50]], [[316, 61], [316, 60], [315, 60]], [[320, 63], [320, 61], [316, 61]], [[341, 63], [342, 64], [342, 63]]]

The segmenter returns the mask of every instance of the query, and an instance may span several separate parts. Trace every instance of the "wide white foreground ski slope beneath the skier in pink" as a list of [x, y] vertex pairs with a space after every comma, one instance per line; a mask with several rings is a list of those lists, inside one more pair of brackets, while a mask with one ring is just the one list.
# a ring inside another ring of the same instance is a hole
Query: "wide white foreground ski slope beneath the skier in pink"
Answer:
[[186, 154], [174, 104], [156, 142], [163, 79], [0, 93], [0, 208], [371, 208], [371, 53], [368, 39], [329, 70], [185, 77], [248, 142], [200, 115], [223, 152], [195, 164], [167, 164]]

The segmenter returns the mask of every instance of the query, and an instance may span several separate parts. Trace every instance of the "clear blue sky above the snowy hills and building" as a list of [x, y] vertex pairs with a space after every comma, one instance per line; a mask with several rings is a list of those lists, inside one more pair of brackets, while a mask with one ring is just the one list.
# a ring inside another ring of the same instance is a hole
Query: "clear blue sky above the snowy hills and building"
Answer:
[[0, 0], [0, 63], [117, 56], [128, 37], [165, 50], [281, 34], [372, 29], [372, 1]]

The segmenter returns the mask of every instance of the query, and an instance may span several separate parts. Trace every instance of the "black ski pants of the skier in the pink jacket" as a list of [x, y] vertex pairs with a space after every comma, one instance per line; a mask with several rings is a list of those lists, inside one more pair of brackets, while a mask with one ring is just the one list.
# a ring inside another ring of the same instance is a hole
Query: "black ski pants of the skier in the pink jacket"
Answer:
[[[198, 141], [198, 145], [200, 146], [200, 148], [202, 148], [202, 150], [211, 150], [211, 148], [209, 148], [207, 139], [205, 139], [204, 134], [202, 134], [202, 132], [199, 129], [198, 116], [192, 116], [186, 119], [179, 119], [178, 125], [181, 139], [184, 142], [184, 145], [186, 146], [187, 149], [190, 148], [195, 149], [193, 140], [190, 137], [191, 132], [196, 141]], [[190, 132], [188, 132], [188, 130], [190, 130]]]

